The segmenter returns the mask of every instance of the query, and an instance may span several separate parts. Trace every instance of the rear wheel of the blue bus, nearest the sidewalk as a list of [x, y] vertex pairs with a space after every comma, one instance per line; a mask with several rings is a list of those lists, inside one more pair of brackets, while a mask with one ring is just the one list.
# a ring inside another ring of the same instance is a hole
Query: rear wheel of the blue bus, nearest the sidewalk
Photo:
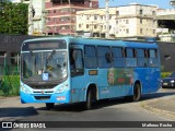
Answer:
[[140, 84], [136, 84], [133, 88], [133, 102], [140, 100], [140, 97], [141, 97]]

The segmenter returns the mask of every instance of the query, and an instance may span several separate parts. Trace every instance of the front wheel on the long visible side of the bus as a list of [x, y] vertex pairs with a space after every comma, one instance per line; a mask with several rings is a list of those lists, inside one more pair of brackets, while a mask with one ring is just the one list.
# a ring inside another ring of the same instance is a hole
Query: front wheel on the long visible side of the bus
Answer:
[[92, 109], [92, 104], [93, 104], [93, 94], [92, 94], [92, 90], [90, 90], [86, 95], [85, 108]]

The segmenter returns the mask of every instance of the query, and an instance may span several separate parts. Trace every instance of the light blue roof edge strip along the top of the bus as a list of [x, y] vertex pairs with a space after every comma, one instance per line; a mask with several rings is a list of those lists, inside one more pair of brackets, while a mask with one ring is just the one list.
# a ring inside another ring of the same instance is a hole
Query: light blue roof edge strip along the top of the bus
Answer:
[[155, 41], [133, 41], [133, 40], [116, 40], [116, 39], [96, 39], [96, 38], [81, 38], [81, 37], [42, 37], [27, 39], [27, 41], [38, 41], [38, 40], [54, 40], [54, 39], [65, 39], [69, 44], [80, 44], [80, 45], [95, 45], [95, 46], [118, 46], [118, 47], [131, 47], [131, 48], [158, 48]]

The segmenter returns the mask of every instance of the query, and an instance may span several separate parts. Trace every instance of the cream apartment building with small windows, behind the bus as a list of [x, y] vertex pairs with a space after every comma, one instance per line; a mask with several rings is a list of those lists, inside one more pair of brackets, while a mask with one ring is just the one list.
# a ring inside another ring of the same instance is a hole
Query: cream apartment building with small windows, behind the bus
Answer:
[[[131, 3], [109, 8], [109, 36], [115, 38], [142, 38], [156, 36], [155, 5]], [[78, 35], [105, 37], [106, 11], [94, 9], [77, 12]]]

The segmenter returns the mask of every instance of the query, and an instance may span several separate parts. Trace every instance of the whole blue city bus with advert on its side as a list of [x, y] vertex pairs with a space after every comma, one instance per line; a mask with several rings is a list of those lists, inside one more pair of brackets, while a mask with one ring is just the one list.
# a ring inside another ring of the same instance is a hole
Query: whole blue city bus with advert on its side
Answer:
[[160, 88], [155, 43], [75, 37], [28, 39], [21, 47], [21, 102], [55, 104], [141, 95]]

